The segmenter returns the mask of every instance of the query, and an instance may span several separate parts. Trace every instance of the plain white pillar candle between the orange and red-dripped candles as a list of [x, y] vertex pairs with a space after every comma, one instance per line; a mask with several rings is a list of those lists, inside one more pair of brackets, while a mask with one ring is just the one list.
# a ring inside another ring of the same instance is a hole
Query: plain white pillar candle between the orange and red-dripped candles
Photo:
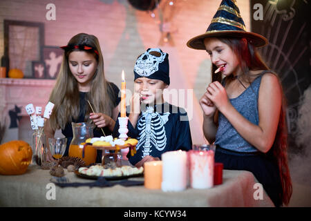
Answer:
[[169, 151], [162, 154], [162, 191], [182, 191], [187, 188], [187, 153]]

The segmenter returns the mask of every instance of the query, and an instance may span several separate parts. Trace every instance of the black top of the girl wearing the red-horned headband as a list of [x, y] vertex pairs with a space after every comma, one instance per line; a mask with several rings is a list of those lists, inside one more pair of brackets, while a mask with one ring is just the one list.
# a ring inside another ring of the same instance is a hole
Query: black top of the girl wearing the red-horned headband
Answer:
[[[113, 93], [113, 97], [114, 99], [114, 107], [117, 106], [120, 103], [120, 96], [119, 96], [119, 92], [120, 89], [117, 88], [117, 86], [115, 84], [113, 84], [112, 82], [109, 82], [109, 84], [111, 85], [111, 92], [109, 93]], [[110, 88], [110, 87], [109, 87]], [[78, 119], [72, 119], [72, 122], [74, 123], [78, 123], [78, 122], [84, 122], [84, 117], [85, 117], [85, 112], [86, 112], [86, 106], [88, 105], [86, 98], [86, 95], [88, 93], [86, 92], [81, 92], [79, 91], [79, 117]], [[103, 101], [104, 102], [104, 101]], [[102, 128], [104, 130], [104, 133], [106, 136], [111, 135], [111, 131], [109, 131], [108, 127], [104, 127]], [[64, 128], [64, 130], [62, 130], [62, 134], [67, 137], [67, 146], [66, 146], [66, 151], [64, 153], [64, 156], [68, 155], [68, 151], [69, 151], [69, 145], [71, 140], [73, 140], [73, 127], [71, 126], [71, 122], [68, 122]], [[102, 130], [100, 128], [94, 128], [93, 130], [93, 135], [94, 137], [101, 137], [104, 136], [102, 133]], [[101, 151], [98, 152], [97, 151], [97, 161], [100, 162], [101, 159]]]

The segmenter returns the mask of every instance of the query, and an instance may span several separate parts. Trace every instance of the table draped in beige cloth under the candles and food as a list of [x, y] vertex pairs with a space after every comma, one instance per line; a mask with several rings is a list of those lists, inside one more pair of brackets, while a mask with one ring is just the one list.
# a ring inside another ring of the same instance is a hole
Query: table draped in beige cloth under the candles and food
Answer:
[[[70, 182], [91, 182], [69, 173]], [[55, 186], [55, 200], [50, 196], [53, 178], [39, 166], [29, 166], [23, 175], [0, 175], [0, 206], [124, 206], [124, 207], [194, 207], [194, 206], [274, 206], [263, 191], [263, 199], [254, 199], [254, 175], [248, 171], [223, 171], [223, 184], [211, 189], [180, 192], [149, 190], [144, 186], [64, 187]], [[143, 180], [143, 177], [131, 178]], [[53, 184], [52, 184], [53, 185]]]

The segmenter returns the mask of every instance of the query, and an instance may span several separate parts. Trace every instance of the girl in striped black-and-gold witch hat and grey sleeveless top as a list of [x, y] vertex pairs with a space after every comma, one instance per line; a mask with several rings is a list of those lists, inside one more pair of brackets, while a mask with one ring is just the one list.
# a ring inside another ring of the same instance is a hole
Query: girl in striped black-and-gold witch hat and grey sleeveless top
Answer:
[[187, 42], [211, 57], [212, 82], [200, 106], [205, 137], [217, 146], [215, 161], [251, 171], [281, 206], [292, 195], [285, 102], [279, 77], [256, 51], [266, 44], [265, 37], [246, 31], [233, 0], [223, 0], [207, 31]]

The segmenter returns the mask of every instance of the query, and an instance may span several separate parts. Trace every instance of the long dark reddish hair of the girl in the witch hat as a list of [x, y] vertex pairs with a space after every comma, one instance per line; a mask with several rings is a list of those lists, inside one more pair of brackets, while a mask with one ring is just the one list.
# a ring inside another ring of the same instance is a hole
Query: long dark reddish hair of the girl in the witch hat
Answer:
[[[223, 43], [227, 44], [236, 54], [238, 58], [239, 65], [242, 70], [242, 74], [239, 75], [243, 81], [248, 82], [249, 84], [252, 83], [256, 75], [250, 75], [249, 70], [269, 70], [268, 66], [265, 64], [261, 56], [258, 54], [256, 47], [249, 44], [246, 39], [236, 39], [236, 38], [218, 38]], [[215, 73], [217, 66], [212, 64], [211, 66], [211, 81], [222, 81], [223, 76], [221, 73]], [[276, 73], [271, 72], [274, 75]], [[259, 74], [258, 74], [259, 75]], [[279, 81], [280, 78], [278, 75]], [[226, 77], [226, 84], [232, 80], [232, 77]], [[281, 81], [280, 81], [281, 82]], [[280, 84], [281, 85], [281, 84]], [[281, 113], [279, 118], [279, 124], [276, 131], [276, 136], [274, 138], [274, 144], [270, 151], [267, 154], [272, 154], [274, 159], [276, 159], [277, 164], [279, 166], [279, 172], [281, 177], [281, 184], [283, 193], [281, 195], [281, 199], [283, 204], [288, 205], [290, 202], [290, 198], [292, 196], [292, 180], [290, 178], [290, 169], [288, 168], [288, 155], [287, 155], [287, 148], [288, 148], [288, 128], [286, 124], [285, 118], [285, 110], [286, 110], [286, 100], [283, 94], [282, 88], [282, 106], [281, 106]]]

